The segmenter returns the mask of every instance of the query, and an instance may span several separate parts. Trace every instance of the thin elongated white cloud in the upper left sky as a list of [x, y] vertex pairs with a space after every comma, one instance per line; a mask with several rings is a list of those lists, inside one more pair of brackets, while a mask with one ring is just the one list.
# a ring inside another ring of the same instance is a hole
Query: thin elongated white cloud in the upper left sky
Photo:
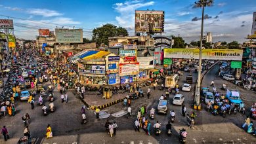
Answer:
[[33, 14], [35, 16], [43, 16], [43, 17], [51, 17], [51, 16], [62, 16], [63, 14], [49, 9], [28, 9], [27, 12], [29, 14]]

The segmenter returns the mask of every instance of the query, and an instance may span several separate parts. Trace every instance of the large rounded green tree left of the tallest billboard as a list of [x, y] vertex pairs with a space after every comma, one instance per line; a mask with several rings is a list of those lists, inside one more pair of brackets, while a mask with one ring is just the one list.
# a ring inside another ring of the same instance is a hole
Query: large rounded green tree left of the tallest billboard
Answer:
[[108, 45], [108, 37], [128, 36], [128, 32], [123, 27], [117, 27], [113, 24], [105, 24], [102, 27], [93, 29], [93, 41], [97, 45], [104, 43]]

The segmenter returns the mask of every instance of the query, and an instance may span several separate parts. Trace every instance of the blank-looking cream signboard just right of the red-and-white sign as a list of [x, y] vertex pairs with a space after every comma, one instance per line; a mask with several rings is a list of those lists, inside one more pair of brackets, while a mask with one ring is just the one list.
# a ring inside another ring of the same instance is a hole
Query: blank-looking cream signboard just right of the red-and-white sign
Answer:
[[154, 68], [154, 56], [138, 57], [137, 61], [140, 63], [139, 69], [153, 69]]

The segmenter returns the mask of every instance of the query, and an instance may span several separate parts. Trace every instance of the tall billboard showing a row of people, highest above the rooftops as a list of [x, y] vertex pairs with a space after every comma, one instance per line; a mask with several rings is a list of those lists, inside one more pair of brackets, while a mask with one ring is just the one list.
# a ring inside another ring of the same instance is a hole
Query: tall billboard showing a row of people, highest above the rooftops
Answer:
[[164, 12], [158, 10], [135, 10], [135, 31], [162, 33], [164, 29]]

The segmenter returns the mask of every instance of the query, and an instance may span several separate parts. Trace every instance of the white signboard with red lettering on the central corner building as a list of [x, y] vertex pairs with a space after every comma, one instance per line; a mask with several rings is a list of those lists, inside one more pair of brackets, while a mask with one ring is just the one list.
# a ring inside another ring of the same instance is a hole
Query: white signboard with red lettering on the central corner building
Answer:
[[137, 75], [139, 73], [139, 62], [119, 63], [119, 75]]

